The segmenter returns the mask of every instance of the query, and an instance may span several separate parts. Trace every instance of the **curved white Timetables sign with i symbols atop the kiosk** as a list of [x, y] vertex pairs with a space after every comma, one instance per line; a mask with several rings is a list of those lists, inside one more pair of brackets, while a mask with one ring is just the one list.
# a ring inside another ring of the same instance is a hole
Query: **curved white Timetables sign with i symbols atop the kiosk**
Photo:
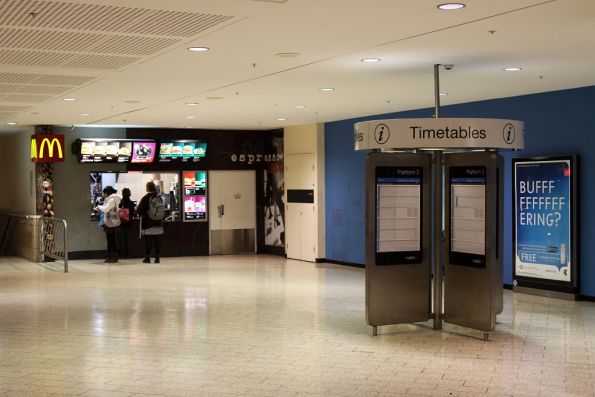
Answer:
[[355, 150], [523, 149], [524, 123], [503, 119], [390, 119], [356, 123]]

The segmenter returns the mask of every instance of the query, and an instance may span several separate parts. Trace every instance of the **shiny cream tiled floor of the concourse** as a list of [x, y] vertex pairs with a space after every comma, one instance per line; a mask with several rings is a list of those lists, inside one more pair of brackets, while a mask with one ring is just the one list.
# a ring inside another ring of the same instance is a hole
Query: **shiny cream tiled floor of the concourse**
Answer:
[[595, 304], [505, 291], [490, 342], [364, 321], [364, 272], [0, 258], [0, 396], [592, 396]]

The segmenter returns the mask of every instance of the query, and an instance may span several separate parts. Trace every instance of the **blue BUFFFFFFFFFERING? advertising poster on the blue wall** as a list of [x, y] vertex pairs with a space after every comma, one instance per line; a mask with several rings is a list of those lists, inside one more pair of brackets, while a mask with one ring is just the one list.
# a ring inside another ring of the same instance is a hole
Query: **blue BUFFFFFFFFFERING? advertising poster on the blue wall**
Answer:
[[576, 158], [514, 159], [515, 279], [576, 286]]

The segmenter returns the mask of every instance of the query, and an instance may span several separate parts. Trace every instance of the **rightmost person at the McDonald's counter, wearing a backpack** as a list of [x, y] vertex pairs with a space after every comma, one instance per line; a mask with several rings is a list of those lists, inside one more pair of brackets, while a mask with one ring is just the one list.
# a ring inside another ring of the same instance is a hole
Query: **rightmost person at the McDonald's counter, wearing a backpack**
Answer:
[[163, 217], [165, 205], [157, 194], [155, 183], [147, 182], [147, 194], [141, 199], [136, 212], [141, 217], [141, 235], [145, 239], [145, 259], [143, 263], [151, 262], [151, 246], [155, 246], [155, 263], [159, 263], [161, 255], [161, 235], [163, 234]]

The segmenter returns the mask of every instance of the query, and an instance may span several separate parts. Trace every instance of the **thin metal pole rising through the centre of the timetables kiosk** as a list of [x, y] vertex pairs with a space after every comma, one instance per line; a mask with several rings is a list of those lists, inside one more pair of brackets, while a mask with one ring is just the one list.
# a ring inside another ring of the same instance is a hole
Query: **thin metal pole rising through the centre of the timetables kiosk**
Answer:
[[[440, 117], [440, 65], [434, 65], [435, 117]], [[442, 151], [434, 152], [434, 172], [432, 173], [433, 217], [433, 255], [434, 270], [434, 329], [442, 329]]]

